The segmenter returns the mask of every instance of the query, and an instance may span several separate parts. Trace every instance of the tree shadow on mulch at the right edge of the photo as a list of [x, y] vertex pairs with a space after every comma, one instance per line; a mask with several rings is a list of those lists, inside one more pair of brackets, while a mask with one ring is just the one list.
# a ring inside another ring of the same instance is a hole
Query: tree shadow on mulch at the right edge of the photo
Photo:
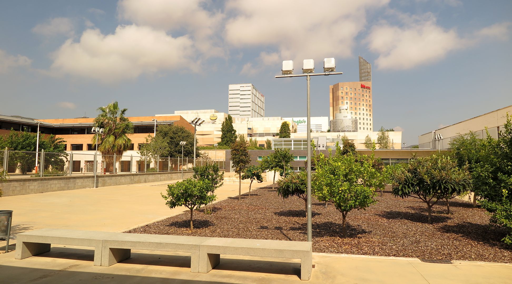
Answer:
[[503, 249], [512, 249], [506, 246], [501, 239], [507, 234], [504, 228], [498, 228], [489, 224], [477, 224], [471, 222], [462, 222], [453, 225], [443, 225], [440, 230], [445, 233], [453, 233], [463, 238], [484, 243], [489, 246]]

